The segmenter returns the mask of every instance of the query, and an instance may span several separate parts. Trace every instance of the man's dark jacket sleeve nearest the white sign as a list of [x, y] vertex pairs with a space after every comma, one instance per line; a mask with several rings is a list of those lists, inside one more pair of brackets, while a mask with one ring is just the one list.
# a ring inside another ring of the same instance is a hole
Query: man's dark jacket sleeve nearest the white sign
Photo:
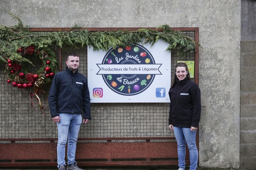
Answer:
[[89, 89], [88, 89], [88, 82], [85, 77], [85, 85], [83, 88], [82, 92], [82, 97], [83, 97], [83, 112], [84, 112], [84, 119], [92, 119], [91, 117], [91, 99], [90, 99], [90, 94], [89, 94]]

